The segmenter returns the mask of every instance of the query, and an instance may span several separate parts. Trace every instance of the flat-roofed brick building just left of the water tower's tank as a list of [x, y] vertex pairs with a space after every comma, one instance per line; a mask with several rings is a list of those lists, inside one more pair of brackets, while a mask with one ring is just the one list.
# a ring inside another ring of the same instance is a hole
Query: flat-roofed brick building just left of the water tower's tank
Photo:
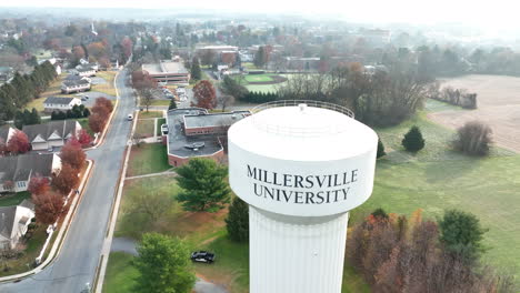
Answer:
[[250, 114], [249, 111], [210, 114], [202, 108], [168, 111], [168, 131], [163, 131], [162, 142], [167, 144], [169, 164], [179, 166], [200, 156], [223, 159], [229, 127]]

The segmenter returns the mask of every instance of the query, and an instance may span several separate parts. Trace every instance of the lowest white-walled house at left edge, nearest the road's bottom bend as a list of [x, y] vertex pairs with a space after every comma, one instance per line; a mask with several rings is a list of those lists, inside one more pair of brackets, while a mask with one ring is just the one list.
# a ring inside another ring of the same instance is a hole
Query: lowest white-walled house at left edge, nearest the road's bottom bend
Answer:
[[0, 206], [0, 250], [14, 249], [34, 218], [34, 204], [24, 200], [19, 205]]

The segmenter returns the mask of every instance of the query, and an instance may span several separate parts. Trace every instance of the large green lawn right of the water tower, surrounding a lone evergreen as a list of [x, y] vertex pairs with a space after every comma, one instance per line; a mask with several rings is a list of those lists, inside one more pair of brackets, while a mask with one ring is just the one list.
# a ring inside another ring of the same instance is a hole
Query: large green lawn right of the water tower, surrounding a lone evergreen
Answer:
[[[426, 139], [426, 148], [416, 155], [401, 146], [402, 135], [414, 124]], [[422, 209], [432, 220], [446, 209], [461, 209], [489, 229], [484, 261], [520, 272], [520, 155], [499, 148], [483, 159], [460, 154], [451, 150], [454, 132], [427, 120], [424, 113], [378, 133], [388, 155], [378, 161], [372, 196], [352, 212], [352, 222], [379, 206], [399, 214]]]

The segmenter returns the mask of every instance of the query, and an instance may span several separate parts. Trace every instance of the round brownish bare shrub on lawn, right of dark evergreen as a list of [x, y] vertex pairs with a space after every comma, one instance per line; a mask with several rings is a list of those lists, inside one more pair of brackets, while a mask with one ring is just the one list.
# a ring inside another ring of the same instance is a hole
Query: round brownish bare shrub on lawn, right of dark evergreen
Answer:
[[479, 121], [471, 121], [457, 130], [453, 146], [466, 154], [487, 155], [491, 142], [491, 129]]

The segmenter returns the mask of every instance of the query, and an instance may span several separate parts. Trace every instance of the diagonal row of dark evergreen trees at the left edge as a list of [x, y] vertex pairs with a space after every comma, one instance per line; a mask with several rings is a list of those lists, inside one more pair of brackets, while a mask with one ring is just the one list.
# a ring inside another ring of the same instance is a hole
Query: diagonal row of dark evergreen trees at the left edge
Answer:
[[0, 120], [13, 119], [17, 110], [40, 97], [56, 77], [56, 69], [49, 61], [36, 65], [31, 74], [14, 73], [11, 82], [0, 87]]

